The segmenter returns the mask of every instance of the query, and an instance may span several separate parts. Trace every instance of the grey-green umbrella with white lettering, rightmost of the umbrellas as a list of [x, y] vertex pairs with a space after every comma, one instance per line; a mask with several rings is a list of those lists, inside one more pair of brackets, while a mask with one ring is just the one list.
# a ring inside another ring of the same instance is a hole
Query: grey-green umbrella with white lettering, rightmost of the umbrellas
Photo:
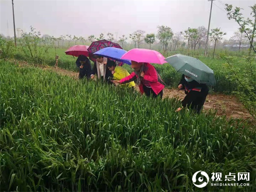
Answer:
[[177, 72], [180, 72], [198, 83], [215, 85], [213, 70], [197, 58], [186, 55], [172, 55], [165, 59]]

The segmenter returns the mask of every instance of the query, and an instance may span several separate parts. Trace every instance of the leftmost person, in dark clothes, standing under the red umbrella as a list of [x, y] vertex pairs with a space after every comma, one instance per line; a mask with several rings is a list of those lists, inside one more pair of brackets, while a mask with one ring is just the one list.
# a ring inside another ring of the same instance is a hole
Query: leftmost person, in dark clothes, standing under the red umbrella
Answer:
[[79, 67], [79, 79], [83, 79], [84, 76], [86, 76], [87, 79], [90, 79], [92, 67], [90, 60], [86, 56], [79, 55], [76, 60], [76, 66]]

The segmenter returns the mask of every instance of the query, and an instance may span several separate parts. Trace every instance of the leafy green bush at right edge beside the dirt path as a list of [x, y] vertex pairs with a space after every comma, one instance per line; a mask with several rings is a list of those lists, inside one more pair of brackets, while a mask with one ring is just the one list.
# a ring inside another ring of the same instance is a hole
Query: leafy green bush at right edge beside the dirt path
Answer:
[[231, 56], [221, 55], [226, 62], [227, 79], [237, 84], [233, 93], [243, 102], [248, 111], [256, 117], [256, 58], [244, 56], [237, 59]]

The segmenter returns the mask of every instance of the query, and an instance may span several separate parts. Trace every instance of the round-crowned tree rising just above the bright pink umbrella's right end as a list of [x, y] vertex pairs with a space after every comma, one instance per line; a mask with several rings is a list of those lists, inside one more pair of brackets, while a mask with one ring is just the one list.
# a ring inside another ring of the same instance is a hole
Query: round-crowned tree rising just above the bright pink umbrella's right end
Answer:
[[172, 40], [173, 32], [168, 26], [157, 26], [157, 38], [163, 44], [163, 50], [166, 51], [168, 43]]

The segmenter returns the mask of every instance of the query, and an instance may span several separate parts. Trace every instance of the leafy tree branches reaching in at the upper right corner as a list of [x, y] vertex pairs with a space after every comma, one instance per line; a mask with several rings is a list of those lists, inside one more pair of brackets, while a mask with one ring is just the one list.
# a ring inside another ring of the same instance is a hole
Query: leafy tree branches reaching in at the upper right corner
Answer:
[[233, 6], [232, 5], [226, 5], [226, 11], [227, 11], [227, 17], [229, 20], [234, 19], [236, 21], [236, 23], [239, 24], [239, 31], [243, 31], [248, 40], [250, 41], [250, 51], [253, 50], [254, 52], [256, 52], [256, 42], [253, 43], [253, 38], [255, 36], [255, 30], [256, 30], [256, 4], [254, 4], [253, 6], [250, 6], [250, 8], [252, 9], [252, 12], [250, 15], [252, 15], [254, 17], [254, 23], [253, 20], [251, 20], [250, 18], [247, 18], [247, 20], [244, 20], [244, 17], [242, 17], [242, 13], [240, 13], [241, 8], [236, 7], [233, 10]]

